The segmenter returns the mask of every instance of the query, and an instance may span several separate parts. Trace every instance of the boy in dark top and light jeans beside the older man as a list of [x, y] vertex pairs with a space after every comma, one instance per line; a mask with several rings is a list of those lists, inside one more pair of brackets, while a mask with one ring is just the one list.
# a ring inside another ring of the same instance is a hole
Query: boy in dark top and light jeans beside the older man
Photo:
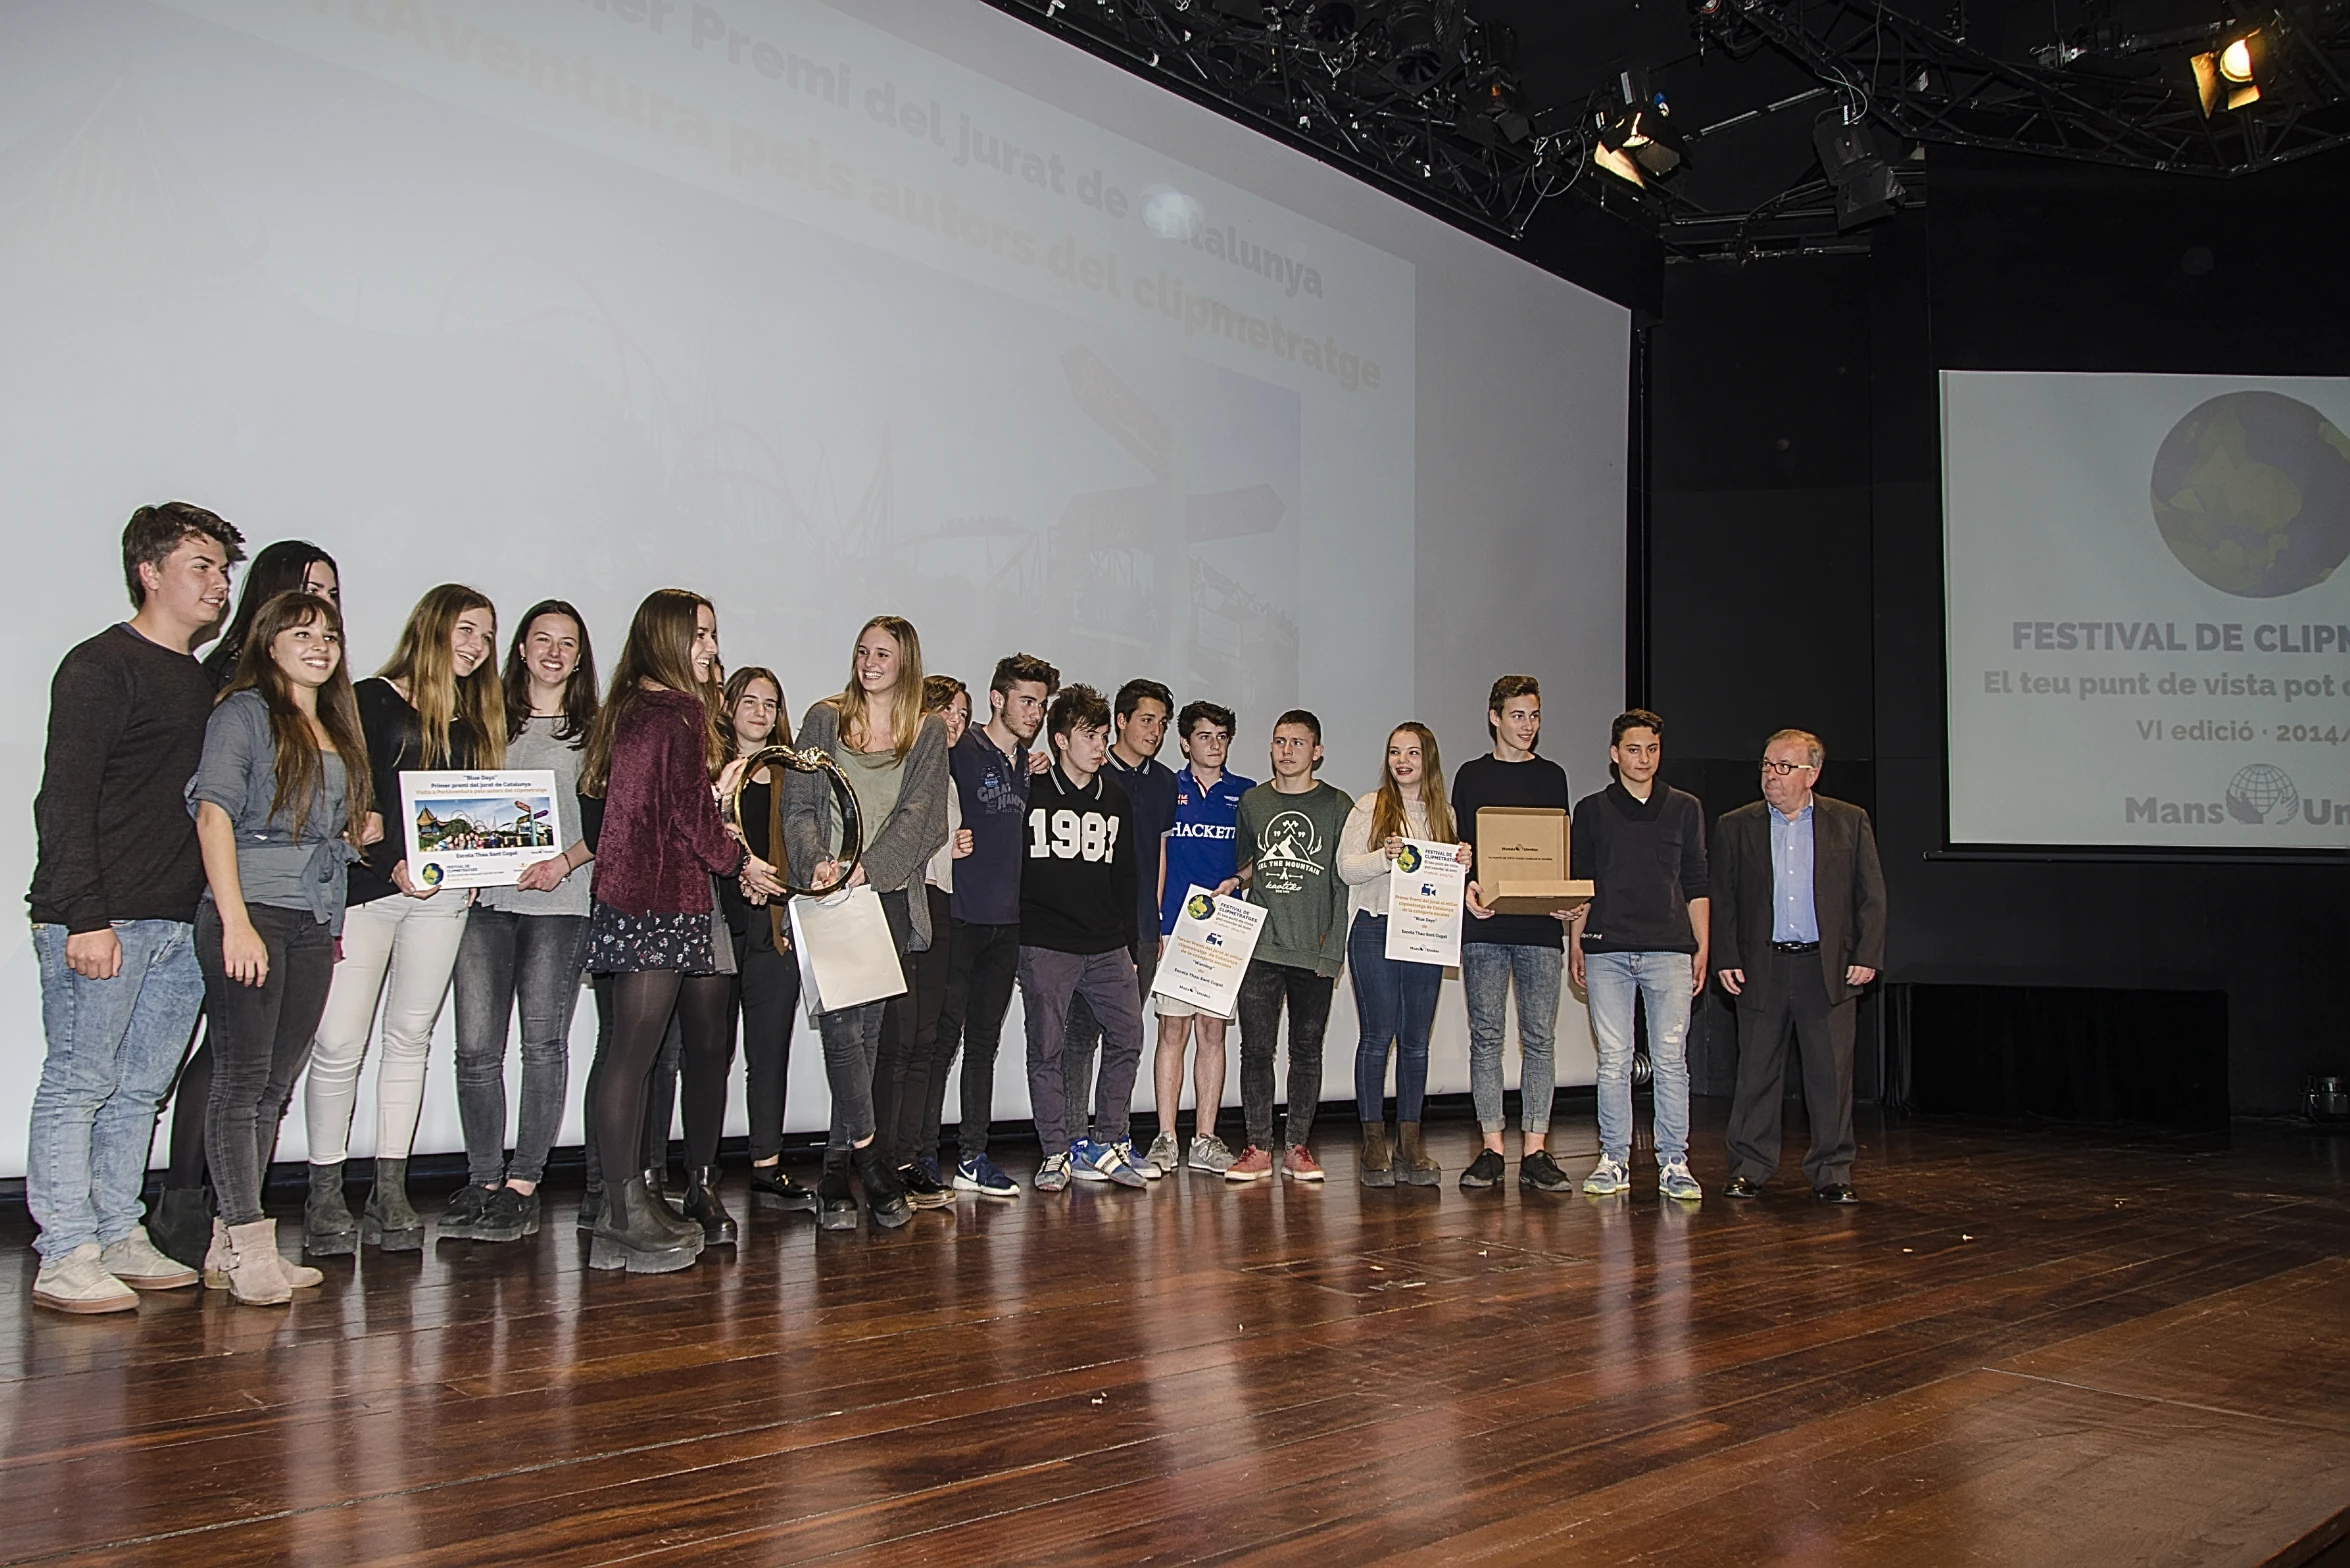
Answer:
[[1600, 1164], [1584, 1192], [1631, 1190], [1631, 1006], [1647, 1004], [1657, 1095], [1657, 1192], [1701, 1199], [1690, 1175], [1690, 1001], [1706, 990], [1706, 813], [1657, 783], [1664, 719], [1619, 712], [1607, 731], [1614, 783], [1574, 802], [1570, 860], [1596, 884], [1570, 929], [1567, 971], [1591, 999], [1600, 1056]]

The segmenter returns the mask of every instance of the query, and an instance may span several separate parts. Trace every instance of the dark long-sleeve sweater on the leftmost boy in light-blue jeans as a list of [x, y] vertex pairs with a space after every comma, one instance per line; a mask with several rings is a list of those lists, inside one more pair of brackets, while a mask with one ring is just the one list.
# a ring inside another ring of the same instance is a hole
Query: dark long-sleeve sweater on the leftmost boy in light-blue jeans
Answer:
[[110, 625], [49, 682], [33, 797], [33, 919], [68, 933], [118, 919], [195, 919], [204, 856], [188, 780], [204, 759], [212, 679], [188, 654]]

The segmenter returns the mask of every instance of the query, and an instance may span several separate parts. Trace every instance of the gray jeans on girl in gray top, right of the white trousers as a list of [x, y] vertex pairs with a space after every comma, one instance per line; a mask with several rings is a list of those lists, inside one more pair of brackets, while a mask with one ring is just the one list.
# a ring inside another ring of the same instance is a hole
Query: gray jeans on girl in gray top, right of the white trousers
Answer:
[[[456, 1112], [465, 1175], [536, 1182], [562, 1131], [571, 1081], [571, 1013], [588, 954], [585, 914], [515, 914], [475, 905], [456, 950]], [[505, 1164], [505, 1025], [522, 1006], [522, 1112]]]

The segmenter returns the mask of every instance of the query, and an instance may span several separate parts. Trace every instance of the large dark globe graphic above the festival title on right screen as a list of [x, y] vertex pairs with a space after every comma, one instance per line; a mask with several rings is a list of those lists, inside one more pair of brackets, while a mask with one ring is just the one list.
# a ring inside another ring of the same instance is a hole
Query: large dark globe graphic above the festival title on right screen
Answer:
[[2350, 437], [2277, 393], [2223, 393], [2155, 451], [2155, 524], [2178, 564], [2247, 599], [2324, 583], [2350, 557]]

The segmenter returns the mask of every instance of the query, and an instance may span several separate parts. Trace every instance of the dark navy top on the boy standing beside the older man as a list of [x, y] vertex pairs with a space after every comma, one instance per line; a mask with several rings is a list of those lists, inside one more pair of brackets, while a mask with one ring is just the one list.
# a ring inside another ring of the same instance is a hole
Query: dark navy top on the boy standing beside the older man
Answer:
[[1650, 785], [1647, 799], [1612, 783], [1574, 802], [1570, 867], [1596, 889], [1584, 952], [1697, 952], [1690, 900], [1706, 898], [1706, 809], [1694, 795]]

